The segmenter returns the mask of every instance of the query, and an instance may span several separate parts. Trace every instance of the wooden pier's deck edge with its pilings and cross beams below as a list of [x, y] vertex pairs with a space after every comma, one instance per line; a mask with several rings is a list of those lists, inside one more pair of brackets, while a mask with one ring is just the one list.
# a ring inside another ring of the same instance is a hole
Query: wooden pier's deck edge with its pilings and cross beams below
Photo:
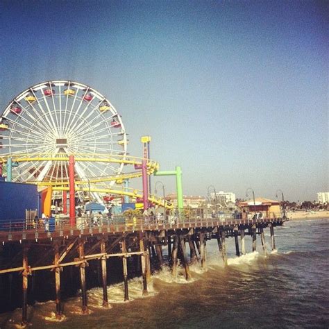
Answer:
[[[217, 239], [219, 258], [223, 260], [224, 266], [227, 266], [226, 238], [235, 239], [235, 251], [239, 256], [246, 253], [246, 235], [252, 237], [252, 251], [255, 251], [257, 235], [260, 235], [266, 253], [264, 229], [270, 230], [271, 248], [274, 250], [276, 248], [274, 228], [282, 226], [285, 221], [287, 219], [283, 217], [225, 219], [224, 221], [198, 217], [178, 218], [175, 223], [157, 221], [151, 223], [145, 218], [138, 218], [130, 224], [114, 220], [103, 221], [100, 226], [83, 227], [72, 227], [64, 222], [58, 223], [52, 232], [44, 232], [42, 228], [24, 228], [24, 230], [12, 228], [10, 232], [0, 231], [0, 280], [1, 276], [11, 278], [12, 273], [22, 275], [22, 324], [26, 324], [28, 323], [28, 285], [31, 281], [29, 278], [36, 271], [51, 271], [53, 273], [51, 280], [55, 287], [53, 295], [56, 301], [56, 317], [60, 319], [61, 293], [67, 289], [67, 285], [62, 284], [62, 271], [71, 269], [64, 278], [68, 280], [69, 276], [71, 278], [73, 276], [72, 269], [78, 267], [79, 286], [82, 292], [81, 312], [86, 314], [88, 312], [86, 269], [92, 262], [99, 262], [97, 268], [100, 269], [99, 286], [103, 288], [102, 305], [109, 307], [108, 277], [111, 273], [108, 271], [108, 260], [110, 258], [121, 258], [121, 264], [119, 262], [116, 264], [119, 271], [122, 271], [123, 298], [124, 301], [128, 301], [129, 269], [136, 269], [135, 273], [142, 276], [141, 294], [146, 295], [151, 280], [151, 268], [156, 266], [161, 268], [165, 262], [162, 254], [163, 246], [167, 246], [167, 262], [171, 267], [172, 275], [177, 274], [179, 258], [185, 270], [185, 278], [189, 280], [192, 277], [189, 264], [199, 262], [202, 269], [207, 269], [206, 248], [207, 241], [210, 239]], [[189, 253], [189, 261], [187, 253]], [[4, 289], [4, 285], [1, 284], [0, 296], [6, 295]], [[67, 292], [65, 293], [67, 295]]]

